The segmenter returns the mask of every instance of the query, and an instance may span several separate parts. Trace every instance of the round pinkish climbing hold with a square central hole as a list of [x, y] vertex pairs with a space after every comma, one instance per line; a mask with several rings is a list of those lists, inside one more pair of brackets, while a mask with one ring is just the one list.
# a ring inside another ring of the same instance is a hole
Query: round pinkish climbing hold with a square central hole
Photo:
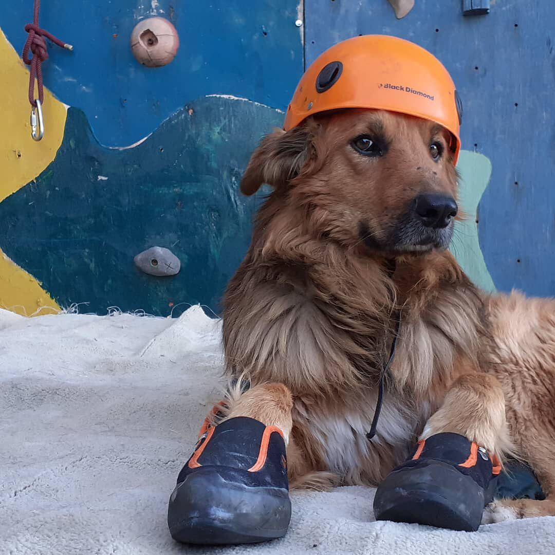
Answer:
[[131, 32], [131, 51], [138, 62], [148, 67], [166, 65], [175, 58], [179, 37], [175, 27], [163, 17], [149, 17]]

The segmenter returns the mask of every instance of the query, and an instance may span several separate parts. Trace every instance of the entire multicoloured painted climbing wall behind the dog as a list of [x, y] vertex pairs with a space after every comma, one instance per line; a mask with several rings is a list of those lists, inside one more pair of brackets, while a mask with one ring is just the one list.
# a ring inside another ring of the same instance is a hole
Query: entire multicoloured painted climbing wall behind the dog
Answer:
[[[363, 33], [421, 44], [457, 84], [468, 218], [452, 250], [463, 268], [487, 290], [553, 295], [555, 4], [491, 0], [481, 16], [463, 16], [463, 4], [416, 0], [397, 19], [386, 0], [304, 0], [304, 10], [299, 0], [43, 0], [41, 27], [74, 50], [49, 44], [36, 143], [19, 58], [32, 0], [14, 3], [0, 29], [0, 306], [218, 312], [261, 199], [238, 194], [250, 153], [281, 125], [304, 63]], [[175, 26], [180, 48], [148, 68], [129, 37], [154, 16]], [[154, 245], [179, 258], [178, 274], [135, 267]]]

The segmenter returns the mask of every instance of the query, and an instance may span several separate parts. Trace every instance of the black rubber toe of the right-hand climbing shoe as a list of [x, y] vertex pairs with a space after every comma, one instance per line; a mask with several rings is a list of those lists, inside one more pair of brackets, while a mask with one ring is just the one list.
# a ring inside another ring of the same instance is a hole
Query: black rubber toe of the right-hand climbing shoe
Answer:
[[446, 463], [391, 472], [376, 491], [376, 520], [410, 522], [475, 532], [485, 507], [485, 492], [470, 476]]

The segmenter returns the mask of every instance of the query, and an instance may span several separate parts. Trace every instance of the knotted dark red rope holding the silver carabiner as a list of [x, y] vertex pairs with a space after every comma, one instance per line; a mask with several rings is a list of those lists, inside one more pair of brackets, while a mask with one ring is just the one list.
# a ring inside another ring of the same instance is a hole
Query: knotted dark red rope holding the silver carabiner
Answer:
[[[59, 47], [67, 48], [68, 50], [72, 50], [73, 47], [70, 44], [65, 44], [64, 42], [60, 41], [53, 34], [41, 29], [38, 26], [38, 11], [41, 7], [41, 0], [34, 0], [34, 9], [33, 9], [33, 23], [27, 23], [25, 26], [25, 31], [28, 34], [27, 41], [25, 42], [25, 46], [23, 47], [23, 62], [27, 65], [31, 66], [29, 69], [29, 102], [31, 103], [32, 107], [36, 107], [37, 103], [34, 99], [34, 83], [37, 80], [37, 88], [38, 88], [38, 99], [43, 103], [44, 99], [44, 92], [42, 88], [42, 67], [41, 64], [48, 58], [48, 52], [46, 49], [46, 41], [44, 37], [50, 39], [54, 44], [57, 44]], [[33, 57], [29, 58], [29, 49], [33, 53]]]

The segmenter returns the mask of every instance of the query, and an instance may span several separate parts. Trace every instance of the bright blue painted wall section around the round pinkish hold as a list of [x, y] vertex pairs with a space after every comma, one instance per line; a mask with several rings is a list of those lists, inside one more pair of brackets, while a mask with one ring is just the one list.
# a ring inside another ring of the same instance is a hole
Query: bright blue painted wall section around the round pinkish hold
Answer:
[[[43, 64], [44, 83], [83, 110], [105, 146], [127, 146], [152, 133], [186, 103], [230, 94], [285, 108], [303, 69], [298, 0], [48, 0], [41, 27], [73, 44]], [[0, 26], [21, 52], [32, 0], [10, 3]], [[129, 37], [140, 19], [168, 18], [180, 48], [162, 68], [135, 61]], [[25, 94], [22, 91], [22, 94]], [[47, 110], [48, 107], [45, 107]]]

